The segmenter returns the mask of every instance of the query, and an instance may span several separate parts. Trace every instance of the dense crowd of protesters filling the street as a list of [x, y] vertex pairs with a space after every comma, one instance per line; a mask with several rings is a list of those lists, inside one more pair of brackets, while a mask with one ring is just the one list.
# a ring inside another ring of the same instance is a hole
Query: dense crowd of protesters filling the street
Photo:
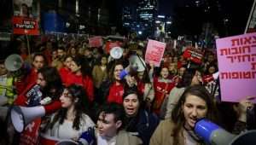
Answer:
[[[147, 42], [119, 41], [124, 49], [119, 59], [109, 55], [105, 43], [90, 47], [87, 40], [46, 37], [34, 40], [29, 51], [26, 43], [15, 42], [24, 60], [20, 73], [6, 69], [7, 56], [0, 61], [0, 124], [5, 126], [0, 144], [19, 144], [22, 139], [10, 125], [13, 105], [44, 106], [39, 144], [49, 136], [79, 142], [89, 130], [101, 145], [200, 144], [193, 128], [201, 118], [236, 134], [255, 129], [255, 116], [247, 114], [247, 108], [255, 113], [255, 98], [221, 102], [218, 79], [206, 79], [218, 72], [214, 49], [195, 48], [203, 54], [198, 62], [184, 57], [182, 48], [166, 48], [160, 67], [147, 64], [143, 72], [122, 79], [131, 55], [144, 59]], [[36, 87], [40, 99], [28, 95]]]

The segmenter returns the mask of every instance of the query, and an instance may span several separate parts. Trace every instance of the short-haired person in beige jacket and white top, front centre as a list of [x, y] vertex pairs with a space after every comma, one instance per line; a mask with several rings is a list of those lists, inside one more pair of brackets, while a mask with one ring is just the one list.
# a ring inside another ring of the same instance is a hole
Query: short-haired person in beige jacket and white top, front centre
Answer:
[[[117, 103], [109, 103], [102, 107], [97, 120], [97, 128], [95, 131], [95, 142], [101, 145], [138, 145], [142, 141], [137, 136], [123, 130], [125, 111], [122, 106]], [[84, 134], [85, 135], [85, 134]], [[86, 140], [85, 137], [79, 140]], [[83, 142], [83, 141], [82, 141]]]

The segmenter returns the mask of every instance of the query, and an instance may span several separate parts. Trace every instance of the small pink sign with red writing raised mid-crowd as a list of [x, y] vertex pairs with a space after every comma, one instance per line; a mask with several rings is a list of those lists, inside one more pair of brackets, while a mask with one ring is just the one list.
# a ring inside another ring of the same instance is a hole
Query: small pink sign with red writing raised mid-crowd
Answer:
[[166, 44], [155, 40], [148, 40], [145, 60], [147, 63], [153, 63], [155, 67], [160, 67], [160, 62], [164, 55]]

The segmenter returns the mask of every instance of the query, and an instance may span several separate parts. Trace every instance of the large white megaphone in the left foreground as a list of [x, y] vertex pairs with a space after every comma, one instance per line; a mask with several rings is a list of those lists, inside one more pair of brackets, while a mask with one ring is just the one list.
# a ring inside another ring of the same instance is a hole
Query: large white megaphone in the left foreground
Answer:
[[10, 115], [15, 130], [22, 132], [26, 125], [32, 122], [33, 119], [43, 117], [45, 114], [45, 108], [43, 106], [38, 107], [20, 107], [14, 106], [11, 108]]

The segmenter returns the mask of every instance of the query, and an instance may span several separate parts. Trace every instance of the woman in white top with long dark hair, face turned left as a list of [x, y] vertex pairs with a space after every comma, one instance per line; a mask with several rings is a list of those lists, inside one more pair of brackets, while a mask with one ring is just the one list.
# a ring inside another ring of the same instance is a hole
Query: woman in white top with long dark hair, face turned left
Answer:
[[71, 84], [63, 91], [60, 101], [61, 109], [51, 117], [42, 136], [78, 140], [84, 131], [95, 125], [85, 113], [88, 99], [83, 87]]

